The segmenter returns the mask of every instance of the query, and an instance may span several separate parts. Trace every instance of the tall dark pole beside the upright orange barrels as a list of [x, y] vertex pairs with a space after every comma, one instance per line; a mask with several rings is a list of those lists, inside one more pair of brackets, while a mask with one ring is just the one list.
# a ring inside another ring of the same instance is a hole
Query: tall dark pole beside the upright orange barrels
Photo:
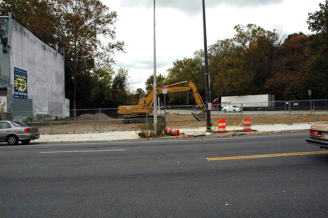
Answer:
[[208, 73], [208, 61], [207, 61], [207, 39], [206, 39], [206, 21], [205, 21], [205, 0], [203, 0], [203, 29], [204, 29], [204, 58], [205, 58], [205, 104], [206, 104], [206, 131], [211, 130], [211, 111], [208, 109], [208, 103], [210, 102], [210, 80]]

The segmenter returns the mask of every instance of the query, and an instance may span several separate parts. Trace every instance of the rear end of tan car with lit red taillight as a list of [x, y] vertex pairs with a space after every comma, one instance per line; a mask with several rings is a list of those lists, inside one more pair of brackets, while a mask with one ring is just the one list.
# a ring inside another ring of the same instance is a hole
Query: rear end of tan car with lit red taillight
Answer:
[[328, 149], [328, 122], [314, 123], [310, 127], [310, 138], [306, 142]]

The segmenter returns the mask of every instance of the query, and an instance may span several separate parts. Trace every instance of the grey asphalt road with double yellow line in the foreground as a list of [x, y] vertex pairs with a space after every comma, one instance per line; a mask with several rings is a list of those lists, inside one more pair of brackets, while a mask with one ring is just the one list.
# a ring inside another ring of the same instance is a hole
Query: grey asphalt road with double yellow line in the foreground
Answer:
[[0, 146], [0, 217], [327, 217], [307, 132]]

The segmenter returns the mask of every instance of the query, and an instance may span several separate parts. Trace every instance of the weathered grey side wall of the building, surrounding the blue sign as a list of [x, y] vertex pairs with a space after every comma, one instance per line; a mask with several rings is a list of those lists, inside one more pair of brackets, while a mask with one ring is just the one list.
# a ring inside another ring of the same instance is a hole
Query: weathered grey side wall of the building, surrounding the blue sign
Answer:
[[9, 55], [11, 84], [14, 84], [14, 67], [27, 71], [28, 99], [10, 96], [13, 109], [23, 111], [31, 106], [33, 111], [67, 109], [63, 55], [16, 19], [12, 19]]

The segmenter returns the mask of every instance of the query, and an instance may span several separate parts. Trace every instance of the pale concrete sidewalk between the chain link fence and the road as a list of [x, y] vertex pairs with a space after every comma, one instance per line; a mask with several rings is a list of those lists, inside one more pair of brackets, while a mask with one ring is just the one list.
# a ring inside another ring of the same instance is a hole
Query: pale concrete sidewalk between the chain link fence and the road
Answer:
[[[236, 135], [241, 134], [259, 134], [269, 132], [290, 132], [310, 129], [311, 124], [299, 123], [299, 124], [269, 124], [269, 125], [252, 125], [251, 132], [243, 132], [243, 127], [227, 126], [227, 133], [206, 133], [206, 127], [199, 128], [179, 128], [180, 136], [184, 131], [200, 130], [205, 133], [198, 137], [220, 137], [232, 135], [236, 131]], [[217, 129], [216, 129], [217, 132]], [[141, 139], [136, 131], [105, 131], [105, 132], [86, 132], [86, 133], [68, 133], [68, 134], [41, 134], [39, 139], [32, 140], [33, 143], [39, 142], [80, 142], [80, 141], [116, 141], [116, 140], [135, 140]], [[183, 136], [185, 137], [185, 136]], [[193, 137], [193, 136], [190, 136]], [[177, 138], [177, 136], [164, 135], [162, 138]]]

